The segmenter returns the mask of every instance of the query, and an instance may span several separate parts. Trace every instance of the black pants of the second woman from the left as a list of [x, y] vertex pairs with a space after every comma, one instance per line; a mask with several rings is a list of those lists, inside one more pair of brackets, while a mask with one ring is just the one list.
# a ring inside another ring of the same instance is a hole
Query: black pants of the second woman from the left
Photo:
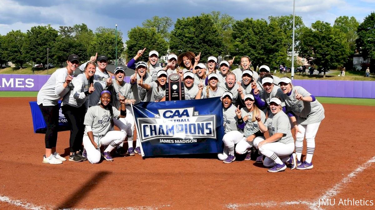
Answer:
[[85, 126], [83, 124], [85, 120], [86, 107], [74, 107], [69, 105], [61, 106], [62, 112], [65, 115], [71, 126], [71, 135], [69, 139], [70, 152], [83, 151], [82, 140]]

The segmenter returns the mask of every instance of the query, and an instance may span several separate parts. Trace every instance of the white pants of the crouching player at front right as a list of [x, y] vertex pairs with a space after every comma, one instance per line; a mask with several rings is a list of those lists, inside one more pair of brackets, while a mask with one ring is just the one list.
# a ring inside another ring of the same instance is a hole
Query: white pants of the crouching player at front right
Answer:
[[271, 161], [274, 163], [282, 164], [283, 161], [280, 158], [288, 157], [294, 151], [294, 142], [290, 142], [287, 144], [281, 142], [272, 142], [266, 143], [262, 145], [261, 148], [258, 148], [259, 142], [263, 140], [264, 139], [261, 138], [254, 139], [253, 145], [255, 146], [255, 148], [259, 149], [259, 152], [262, 155], [269, 158], [269, 160], [263, 162], [264, 166], [266, 167], [270, 167]]

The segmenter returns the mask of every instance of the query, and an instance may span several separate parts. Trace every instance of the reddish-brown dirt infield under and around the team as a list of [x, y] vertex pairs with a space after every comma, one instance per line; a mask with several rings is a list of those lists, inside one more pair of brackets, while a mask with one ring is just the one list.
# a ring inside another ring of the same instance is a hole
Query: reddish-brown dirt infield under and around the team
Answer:
[[[375, 106], [324, 104], [314, 169], [267, 173], [254, 161], [223, 164], [215, 155], [42, 164], [44, 135], [33, 133], [28, 104], [35, 100], [0, 98], [0, 209], [374, 209], [338, 203], [375, 204]], [[65, 157], [68, 139], [58, 133]], [[336, 204], [319, 207], [320, 198]]]

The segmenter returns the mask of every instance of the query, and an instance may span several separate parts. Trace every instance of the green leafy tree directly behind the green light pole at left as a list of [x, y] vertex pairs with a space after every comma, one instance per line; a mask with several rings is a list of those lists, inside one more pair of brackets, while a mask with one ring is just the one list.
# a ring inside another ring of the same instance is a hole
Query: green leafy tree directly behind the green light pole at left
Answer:
[[[121, 31], [117, 31], [117, 58], [124, 50]], [[96, 29], [94, 38], [89, 47], [89, 54], [106, 55], [108, 60], [116, 58], [116, 30], [114, 28], [99, 27]]]

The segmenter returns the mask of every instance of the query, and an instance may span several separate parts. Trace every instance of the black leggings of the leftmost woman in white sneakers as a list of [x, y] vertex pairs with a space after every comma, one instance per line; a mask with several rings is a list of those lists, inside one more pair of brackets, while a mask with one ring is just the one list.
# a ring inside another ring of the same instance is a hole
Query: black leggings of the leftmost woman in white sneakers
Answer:
[[43, 106], [39, 105], [40, 111], [42, 111], [44, 121], [47, 125], [46, 135], [44, 137], [46, 149], [52, 149], [56, 147], [57, 142], [57, 129], [58, 129], [58, 105], [54, 106]]

